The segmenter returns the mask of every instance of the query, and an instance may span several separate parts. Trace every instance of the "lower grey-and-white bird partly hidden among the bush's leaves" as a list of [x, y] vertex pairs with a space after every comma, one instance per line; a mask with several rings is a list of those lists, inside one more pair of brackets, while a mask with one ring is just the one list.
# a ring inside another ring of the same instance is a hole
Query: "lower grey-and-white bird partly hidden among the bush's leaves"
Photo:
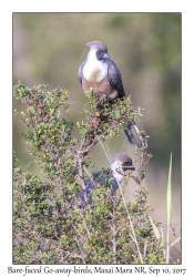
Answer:
[[[91, 201], [91, 193], [99, 184], [104, 186], [108, 182], [111, 182], [111, 195], [115, 195], [121, 182], [126, 175], [127, 171], [135, 171], [132, 158], [126, 154], [115, 154], [110, 157], [111, 165], [105, 171], [98, 171], [92, 174], [91, 178], [84, 178], [84, 186], [86, 192], [86, 198]], [[84, 191], [79, 193], [79, 197], [82, 204], [85, 204]]]

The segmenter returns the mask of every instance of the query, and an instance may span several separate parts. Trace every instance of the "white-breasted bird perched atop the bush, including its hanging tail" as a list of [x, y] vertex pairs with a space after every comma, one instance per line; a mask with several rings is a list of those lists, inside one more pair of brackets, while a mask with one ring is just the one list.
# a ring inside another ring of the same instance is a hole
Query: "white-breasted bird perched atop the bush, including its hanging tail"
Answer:
[[[124, 99], [126, 94], [121, 72], [116, 64], [110, 60], [106, 45], [101, 41], [91, 41], [86, 45], [90, 51], [86, 60], [80, 64], [78, 71], [78, 78], [83, 91], [89, 91], [92, 88], [94, 94], [105, 94], [110, 103], [118, 98]], [[124, 132], [131, 144], [137, 147], [147, 147], [145, 140], [139, 135], [140, 131], [134, 120], [125, 124]]]

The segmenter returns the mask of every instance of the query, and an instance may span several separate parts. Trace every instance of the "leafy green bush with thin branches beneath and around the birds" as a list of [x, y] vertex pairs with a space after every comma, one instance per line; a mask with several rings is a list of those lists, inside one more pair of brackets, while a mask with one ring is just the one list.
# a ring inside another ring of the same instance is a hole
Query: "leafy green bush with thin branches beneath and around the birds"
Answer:
[[[139, 185], [133, 204], [124, 202], [120, 189], [111, 195], [111, 181], [104, 186], [95, 184], [92, 201], [85, 195], [84, 178], [91, 177], [88, 168], [93, 166], [90, 151], [100, 140], [123, 132], [125, 122], [139, 119], [142, 109], [135, 111], [130, 98], [110, 105], [105, 96], [89, 91], [85, 122], [75, 124], [78, 140], [72, 136], [74, 124], [60, 117], [61, 110], [69, 111], [67, 91], [45, 89], [14, 86], [16, 100], [25, 105], [20, 112], [28, 127], [23, 136], [44, 177], [21, 170], [14, 155], [13, 263], [163, 264], [162, 247], [149, 218], [149, 191], [142, 185], [143, 166], [151, 154], [139, 150], [136, 175], [125, 177], [123, 191], [129, 178]], [[84, 205], [78, 196], [81, 191]]]

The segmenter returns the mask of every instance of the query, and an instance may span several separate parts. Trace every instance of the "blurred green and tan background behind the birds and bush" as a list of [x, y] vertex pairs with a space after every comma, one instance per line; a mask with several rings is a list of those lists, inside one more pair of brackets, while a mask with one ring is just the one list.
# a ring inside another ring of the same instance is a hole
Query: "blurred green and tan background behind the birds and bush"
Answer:
[[[121, 71], [133, 107], [144, 107], [137, 125], [149, 135], [147, 152], [153, 157], [145, 166], [143, 183], [151, 191], [151, 217], [166, 226], [166, 185], [170, 154], [173, 153], [172, 220], [180, 236], [181, 225], [181, 13], [13, 13], [13, 85], [18, 80], [33, 86], [48, 84], [48, 90], [61, 86], [69, 91], [73, 122], [84, 120], [82, 109], [86, 99], [78, 81], [78, 69], [89, 52], [86, 42], [100, 40], [106, 44], [110, 58]], [[13, 109], [22, 109], [13, 100]], [[29, 155], [20, 117], [13, 116], [13, 150], [29, 171], [41, 175]], [[73, 135], [78, 137], [75, 126]], [[124, 134], [106, 141], [111, 154], [130, 154], [133, 146]], [[106, 167], [101, 145], [91, 157], [95, 170]], [[134, 199], [137, 189], [130, 181], [126, 199]], [[164, 232], [165, 236], [165, 232]], [[172, 239], [175, 236], [172, 234]], [[171, 255], [181, 258], [180, 245]]]

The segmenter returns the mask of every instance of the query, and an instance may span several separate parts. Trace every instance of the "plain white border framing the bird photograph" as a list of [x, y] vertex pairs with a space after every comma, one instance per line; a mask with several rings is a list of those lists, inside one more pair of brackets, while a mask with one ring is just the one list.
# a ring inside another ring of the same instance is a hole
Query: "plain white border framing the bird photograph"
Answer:
[[[183, 265], [193, 273], [193, 144], [194, 144], [194, 16], [192, 1], [17, 1], [1, 2], [0, 17], [0, 273], [8, 276], [12, 263], [12, 12], [182, 12], [182, 170]], [[17, 266], [14, 266], [17, 267]], [[20, 266], [21, 267], [21, 266]], [[34, 266], [35, 267], [35, 266]], [[157, 266], [157, 268], [167, 266]], [[170, 266], [171, 268], [173, 266]], [[10, 274], [9, 274], [10, 276]], [[16, 275], [14, 276], [21, 276]], [[95, 275], [99, 276], [99, 275]], [[101, 275], [102, 276], [102, 275]], [[120, 276], [120, 275], [116, 275]], [[123, 275], [122, 275], [123, 276]], [[139, 276], [139, 274], [136, 275]], [[159, 275], [163, 276], [163, 275]]]

